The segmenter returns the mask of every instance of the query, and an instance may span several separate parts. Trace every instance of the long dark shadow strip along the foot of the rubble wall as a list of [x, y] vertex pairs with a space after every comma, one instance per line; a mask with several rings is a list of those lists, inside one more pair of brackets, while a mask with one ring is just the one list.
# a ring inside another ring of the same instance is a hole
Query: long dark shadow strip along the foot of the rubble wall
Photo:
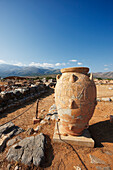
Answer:
[[21, 109], [21, 108], [26, 107], [27, 105], [33, 104], [34, 102], [36, 102], [37, 99], [41, 100], [41, 99], [43, 99], [43, 98], [45, 98], [45, 97], [47, 97], [47, 96], [49, 96], [49, 95], [51, 95], [53, 93], [54, 93], [54, 89], [53, 88], [49, 88], [47, 92], [45, 92], [44, 94], [41, 94], [37, 98], [32, 99], [31, 101], [25, 102], [24, 104], [22, 104], [20, 106], [16, 106], [16, 107], [11, 108], [11, 109], [6, 109], [4, 112], [2, 112], [0, 114], [0, 119], [6, 117], [9, 113], [15, 112], [18, 109]]

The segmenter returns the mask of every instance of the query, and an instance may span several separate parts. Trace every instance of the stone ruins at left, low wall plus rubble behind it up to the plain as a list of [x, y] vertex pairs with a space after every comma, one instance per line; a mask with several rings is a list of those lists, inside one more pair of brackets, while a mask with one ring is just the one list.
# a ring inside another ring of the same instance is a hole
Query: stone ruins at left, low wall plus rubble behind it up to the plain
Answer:
[[45, 93], [51, 83], [30, 79], [6, 79], [0, 87], [0, 112], [19, 106]]

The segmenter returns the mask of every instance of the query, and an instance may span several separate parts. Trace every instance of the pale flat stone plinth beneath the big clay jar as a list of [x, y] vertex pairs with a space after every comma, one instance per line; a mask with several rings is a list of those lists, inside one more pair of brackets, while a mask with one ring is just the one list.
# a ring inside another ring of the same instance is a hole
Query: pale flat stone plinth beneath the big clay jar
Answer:
[[[58, 122], [57, 122], [58, 123]], [[78, 146], [85, 146], [85, 147], [94, 147], [94, 140], [91, 138], [91, 134], [89, 130], [85, 129], [81, 136], [64, 136], [60, 135], [60, 124], [55, 124], [54, 129], [54, 142], [67, 142], [69, 144], [74, 144]]]

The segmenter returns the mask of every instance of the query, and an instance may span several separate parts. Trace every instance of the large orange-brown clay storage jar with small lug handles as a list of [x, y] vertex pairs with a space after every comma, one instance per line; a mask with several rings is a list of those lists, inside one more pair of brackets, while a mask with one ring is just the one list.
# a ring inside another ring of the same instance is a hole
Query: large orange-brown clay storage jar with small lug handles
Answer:
[[87, 67], [61, 69], [55, 87], [55, 103], [61, 134], [79, 136], [87, 128], [96, 105], [96, 86]]

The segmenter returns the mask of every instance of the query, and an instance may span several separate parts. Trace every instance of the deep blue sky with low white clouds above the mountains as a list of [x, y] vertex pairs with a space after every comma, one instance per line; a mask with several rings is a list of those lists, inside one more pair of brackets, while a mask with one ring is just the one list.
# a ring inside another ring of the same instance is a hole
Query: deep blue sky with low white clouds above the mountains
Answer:
[[113, 0], [0, 0], [0, 63], [113, 71]]

